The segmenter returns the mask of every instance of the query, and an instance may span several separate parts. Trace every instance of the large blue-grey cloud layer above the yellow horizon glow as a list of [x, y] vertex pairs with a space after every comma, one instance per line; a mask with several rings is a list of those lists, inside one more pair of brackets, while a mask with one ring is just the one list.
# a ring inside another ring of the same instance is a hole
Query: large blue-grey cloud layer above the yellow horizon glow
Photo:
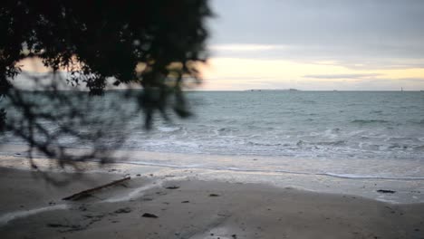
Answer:
[[[362, 69], [423, 65], [424, 1], [213, 0], [219, 57], [334, 61]], [[240, 46], [260, 46], [247, 47]], [[284, 46], [284, 47], [280, 47]]]

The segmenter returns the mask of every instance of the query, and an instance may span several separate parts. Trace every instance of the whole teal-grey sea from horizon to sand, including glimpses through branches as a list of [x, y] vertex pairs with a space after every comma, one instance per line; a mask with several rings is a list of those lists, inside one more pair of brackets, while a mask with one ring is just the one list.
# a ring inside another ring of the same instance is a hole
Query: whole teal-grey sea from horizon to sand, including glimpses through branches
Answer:
[[[421, 91], [188, 91], [194, 116], [178, 119], [169, 112], [166, 120], [156, 114], [150, 130], [143, 127], [135, 95], [137, 91], [131, 96], [108, 91], [95, 100], [86, 100], [82, 93], [72, 96], [75, 106], [92, 119], [80, 122], [78, 130], [101, 129], [101, 147], [158, 153], [149, 158], [129, 153], [131, 164], [416, 180], [423, 186]], [[67, 112], [42, 100], [42, 93], [28, 97], [43, 102], [46, 112]], [[19, 114], [13, 111], [9, 118], [17, 120]], [[52, 132], [58, 128], [57, 122], [41, 123]], [[24, 144], [10, 132], [0, 140]], [[67, 134], [55, 140], [68, 148], [91, 147], [89, 141]]]

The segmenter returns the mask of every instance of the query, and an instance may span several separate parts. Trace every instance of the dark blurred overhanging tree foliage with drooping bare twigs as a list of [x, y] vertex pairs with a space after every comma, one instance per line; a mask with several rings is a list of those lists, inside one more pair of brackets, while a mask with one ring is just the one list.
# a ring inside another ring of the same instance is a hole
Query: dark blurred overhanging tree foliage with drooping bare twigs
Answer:
[[[169, 107], [179, 117], [188, 117], [190, 112], [182, 88], [188, 82], [199, 82], [198, 63], [207, 60], [205, 20], [211, 15], [207, 0], [134, 0], [119, 4], [111, 0], [3, 1], [0, 4], [0, 103], [3, 105], [0, 131], [24, 139], [31, 147], [30, 156], [36, 148], [55, 158], [71, 158], [57, 143], [61, 134], [93, 141], [116, 137], [101, 134], [108, 122], [102, 122], [101, 129], [79, 131], [78, 127], [90, 124], [90, 119], [78, 110], [78, 104], [90, 100], [82, 96], [76, 97], [80, 101], [74, 101], [75, 95], [82, 92], [61, 91], [66, 87], [87, 88], [92, 96], [104, 94], [111, 84], [142, 88], [143, 91], [128, 99], [136, 99], [147, 128], [151, 127], [157, 110], [166, 119]], [[22, 91], [14, 85], [14, 78], [26, 73], [20, 65], [25, 59], [42, 61], [52, 70], [48, 74], [50, 81], [41, 79], [45, 75], [27, 73], [26, 79], [34, 81], [31, 90], [37, 91]], [[37, 94], [43, 94], [54, 107], [65, 110], [61, 114], [40, 110], [43, 103], [34, 100]], [[131, 91], [130, 95], [133, 94]], [[14, 114], [10, 114], [11, 109]], [[119, 109], [117, 101], [104, 110]], [[49, 131], [45, 121], [56, 122], [59, 127]], [[112, 121], [125, 127], [123, 115]], [[97, 157], [100, 151], [72, 159]]]

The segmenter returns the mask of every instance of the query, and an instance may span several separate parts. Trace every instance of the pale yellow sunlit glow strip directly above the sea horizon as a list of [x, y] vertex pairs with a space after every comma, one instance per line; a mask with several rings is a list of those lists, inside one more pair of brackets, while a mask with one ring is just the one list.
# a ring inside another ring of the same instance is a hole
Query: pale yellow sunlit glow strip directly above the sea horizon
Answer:
[[[202, 67], [203, 90], [287, 89], [397, 91], [424, 89], [424, 68], [355, 70], [341, 65], [212, 58]], [[416, 79], [416, 81], [410, 81]], [[421, 81], [422, 80], [422, 81]], [[379, 88], [379, 85], [381, 86]], [[361, 86], [361, 87], [359, 87]]]

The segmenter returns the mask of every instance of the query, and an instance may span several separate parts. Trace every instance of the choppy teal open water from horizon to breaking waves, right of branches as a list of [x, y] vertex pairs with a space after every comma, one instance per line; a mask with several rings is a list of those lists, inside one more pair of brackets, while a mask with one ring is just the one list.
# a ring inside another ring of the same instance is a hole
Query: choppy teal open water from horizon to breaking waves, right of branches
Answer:
[[146, 150], [294, 158], [421, 159], [424, 92], [194, 92], [197, 117], [131, 138]]

